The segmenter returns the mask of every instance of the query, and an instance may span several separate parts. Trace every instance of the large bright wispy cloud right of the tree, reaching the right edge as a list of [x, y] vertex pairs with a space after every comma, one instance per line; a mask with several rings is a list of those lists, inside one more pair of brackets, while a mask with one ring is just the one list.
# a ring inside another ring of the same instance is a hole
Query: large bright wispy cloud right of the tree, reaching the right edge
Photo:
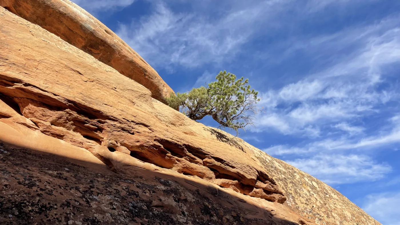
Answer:
[[305, 75], [280, 90], [262, 93], [261, 105], [266, 113], [259, 117], [258, 129], [307, 134], [310, 127], [318, 130], [331, 125], [352, 134], [359, 133], [358, 128], [345, 127], [348, 120], [379, 113], [379, 106], [399, 99], [396, 85], [378, 89], [386, 84], [386, 67], [400, 64], [399, 26], [393, 18], [385, 19], [373, 28], [358, 28], [358, 35], [345, 30], [312, 39], [311, 44], [297, 44], [295, 48], [307, 46], [311, 52], [332, 43], [339, 48], [351, 45], [358, 48], [320, 72]]

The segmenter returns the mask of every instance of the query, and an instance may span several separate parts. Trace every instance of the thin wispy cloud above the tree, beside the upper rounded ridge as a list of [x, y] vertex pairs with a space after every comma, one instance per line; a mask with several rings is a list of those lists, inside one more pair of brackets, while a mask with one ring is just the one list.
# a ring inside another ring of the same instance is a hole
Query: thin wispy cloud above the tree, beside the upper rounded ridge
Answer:
[[[202, 1], [191, 3], [194, 11], [178, 12], [167, 2], [157, 0], [152, 2], [152, 14], [120, 24], [116, 33], [156, 68], [173, 71], [180, 66], [217, 66], [246, 51], [244, 45], [265, 35], [268, 29], [277, 30], [280, 23], [291, 24], [291, 20], [282, 20], [284, 14], [296, 14], [301, 19], [328, 6], [356, 5], [354, 2]], [[359, 4], [364, 2], [369, 1]]]

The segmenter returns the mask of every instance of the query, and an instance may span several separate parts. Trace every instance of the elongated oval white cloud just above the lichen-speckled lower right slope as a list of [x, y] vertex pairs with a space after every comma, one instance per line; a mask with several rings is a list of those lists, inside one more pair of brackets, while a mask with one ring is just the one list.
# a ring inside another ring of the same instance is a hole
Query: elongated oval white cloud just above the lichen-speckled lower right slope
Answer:
[[392, 171], [387, 163], [377, 163], [366, 155], [315, 155], [287, 163], [330, 185], [376, 181]]

